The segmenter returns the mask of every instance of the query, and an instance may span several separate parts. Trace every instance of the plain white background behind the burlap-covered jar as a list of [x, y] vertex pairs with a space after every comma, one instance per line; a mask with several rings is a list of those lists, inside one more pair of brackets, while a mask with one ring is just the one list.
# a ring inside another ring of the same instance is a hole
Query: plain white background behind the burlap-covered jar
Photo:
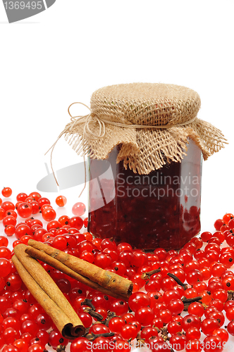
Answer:
[[[181, 84], [199, 93], [198, 117], [229, 142], [203, 164], [202, 230], [213, 231], [216, 218], [234, 211], [233, 13], [233, 0], [57, 0], [9, 25], [1, 3], [0, 188], [12, 187], [13, 201], [36, 190], [47, 175], [44, 153], [69, 122], [70, 103], [89, 105], [92, 92], [109, 84]], [[78, 161], [62, 138], [54, 169]], [[62, 192], [68, 215], [81, 188]], [[58, 194], [42, 196], [53, 203]]]

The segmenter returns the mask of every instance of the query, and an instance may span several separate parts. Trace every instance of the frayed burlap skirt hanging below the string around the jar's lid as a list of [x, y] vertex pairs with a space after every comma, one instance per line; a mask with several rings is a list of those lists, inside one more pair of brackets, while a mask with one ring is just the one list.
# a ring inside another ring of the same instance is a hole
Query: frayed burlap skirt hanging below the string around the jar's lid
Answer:
[[[70, 124], [67, 126], [69, 127]], [[220, 151], [226, 139], [222, 132], [209, 122], [196, 119], [186, 126], [171, 127], [166, 130], [131, 129], [106, 125], [104, 137], [85, 139], [84, 126], [76, 126], [68, 131], [65, 138], [78, 155], [104, 160], [115, 146], [121, 145], [117, 163], [133, 172], [147, 175], [172, 161], [181, 162], [186, 155], [187, 142], [191, 138], [201, 149], [204, 160]], [[101, 146], [101, 147], [100, 147]]]

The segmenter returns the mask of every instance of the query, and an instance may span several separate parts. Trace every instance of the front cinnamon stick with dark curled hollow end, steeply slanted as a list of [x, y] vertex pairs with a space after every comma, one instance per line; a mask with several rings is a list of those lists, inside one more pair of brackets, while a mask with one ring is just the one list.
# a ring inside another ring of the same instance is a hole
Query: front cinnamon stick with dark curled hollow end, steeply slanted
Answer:
[[25, 286], [51, 317], [63, 337], [75, 339], [82, 336], [85, 327], [75, 310], [42, 265], [25, 253], [26, 247], [25, 244], [18, 244], [14, 248], [15, 255], [12, 257], [13, 264]]

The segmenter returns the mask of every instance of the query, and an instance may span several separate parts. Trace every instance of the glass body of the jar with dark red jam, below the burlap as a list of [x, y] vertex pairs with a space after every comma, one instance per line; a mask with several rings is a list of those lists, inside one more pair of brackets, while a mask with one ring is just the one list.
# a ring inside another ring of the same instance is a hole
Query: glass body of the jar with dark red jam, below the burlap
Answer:
[[118, 147], [90, 159], [88, 231], [133, 248], [180, 249], [200, 231], [202, 152], [190, 139], [186, 153], [149, 175], [117, 164]]

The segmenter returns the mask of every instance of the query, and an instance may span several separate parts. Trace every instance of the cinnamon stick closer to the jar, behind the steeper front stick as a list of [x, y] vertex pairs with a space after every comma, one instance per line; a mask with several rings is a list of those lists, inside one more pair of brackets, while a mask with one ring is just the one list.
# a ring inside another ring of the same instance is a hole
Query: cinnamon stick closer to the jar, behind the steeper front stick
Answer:
[[30, 239], [25, 251], [30, 256], [48, 263], [53, 268], [104, 294], [122, 299], [126, 299], [132, 294], [133, 282], [130, 280], [59, 251], [59, 249], [54, 249], [47, 244]]

